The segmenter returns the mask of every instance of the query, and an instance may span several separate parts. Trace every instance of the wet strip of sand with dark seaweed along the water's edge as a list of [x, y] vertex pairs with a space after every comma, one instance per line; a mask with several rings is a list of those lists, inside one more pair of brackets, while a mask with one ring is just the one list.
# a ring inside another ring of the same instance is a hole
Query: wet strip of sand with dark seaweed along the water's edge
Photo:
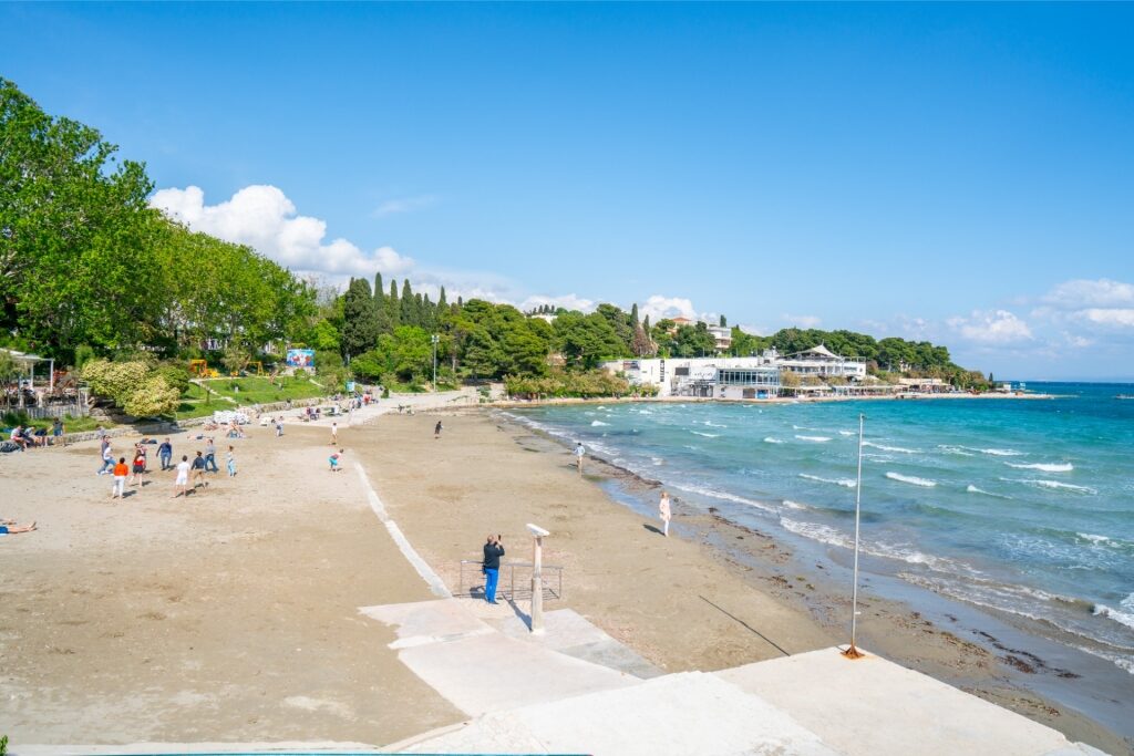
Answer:
[[[513, 426], [516, 433], [540, 438], [552, 453], [569, 452], [561, 440], [517, 418], [498, 414], [491, 419]], [[602, 459], [593, 451], [589, 468], [587, 477], [594, 478], [611, 503], [651, 516], [652, 499], [661, 482]], [[849, 570], [821, 544], [797, 549], [759, 526], [723, 517], [716, 507], [709, 507], [708, 511], [689, 507], [679, 495], [674, 498], [674, 534], [706, 546], [716, 559], [746, 574], [752, 584], [770, 592], [776, 600], [806, 612], [833, 637], [847, 635]], [[756, 550], [747, 547], [753, 541], [760, 544]], [[840, 577], [845, 579], [840, 581]], [[883, 585], [885, 591], [878, 591]], [[861, 594], [860, 606], [865, 619], [860, 620], [860, 645], [1058, 729], [1069, 738], [1108, 753], [1134, 750], [1129, 734], [1123, 736], [1089, 713], [1058, 703], [1050, 690], [1044, 690], [1051, 686], [1041, 676], [1059, 679], [1077, 674], [1059, 666], [1063, 656], [1059, 649], [1049, 648], [1047, 661], [1030, 651], [1033, 644], [1029, 642], [1040, 642], [1040, 646], [1050, 646], [1051, 642], [1014, 627], [1010, 618], [904, 584], [892, 575], [864, 572]], [[928, 649], [926, 644], [934, 648]]]

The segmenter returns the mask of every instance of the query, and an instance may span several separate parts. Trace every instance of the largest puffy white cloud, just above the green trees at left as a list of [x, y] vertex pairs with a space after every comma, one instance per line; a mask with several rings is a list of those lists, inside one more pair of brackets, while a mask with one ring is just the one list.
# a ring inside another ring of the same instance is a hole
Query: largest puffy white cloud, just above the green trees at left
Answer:
[[246, 244], [260, 254], [301, 274], [372, 278], [374, 273], [405, 273], [414, 261], [392, 247], [365, 253], [350, 241], [327, 237], [327, 222], [296, 213], [295, 204], [274, 186], [247, 186], [231, 199], [206, 205], [200, 187], [161, 189], [150, 199], [194, 231]]

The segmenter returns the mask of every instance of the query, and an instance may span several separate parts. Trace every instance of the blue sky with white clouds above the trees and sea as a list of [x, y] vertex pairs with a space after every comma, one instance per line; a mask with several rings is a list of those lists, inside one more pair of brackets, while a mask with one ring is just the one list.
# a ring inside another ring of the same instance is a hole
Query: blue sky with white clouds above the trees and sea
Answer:
[[144, 160], [156, 204], [328, 280], [1134, 377], [1131, 5], [7, 3], [0, 28], [0, 75]]

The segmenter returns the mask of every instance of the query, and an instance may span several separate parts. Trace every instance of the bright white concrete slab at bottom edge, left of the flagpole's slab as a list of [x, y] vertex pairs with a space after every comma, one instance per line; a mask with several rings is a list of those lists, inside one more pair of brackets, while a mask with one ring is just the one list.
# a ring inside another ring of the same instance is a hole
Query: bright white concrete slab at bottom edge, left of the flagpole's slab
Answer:
[[397, 744], [405, 753], [836, 756], [814, 733], [720, 678], [685, 672], [523, 706]]

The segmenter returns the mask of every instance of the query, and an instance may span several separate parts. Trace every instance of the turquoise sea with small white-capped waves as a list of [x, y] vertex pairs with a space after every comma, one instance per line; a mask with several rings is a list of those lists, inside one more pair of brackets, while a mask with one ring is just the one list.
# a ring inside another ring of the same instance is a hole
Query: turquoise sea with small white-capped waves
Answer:
[[642, 402], [516, 410], [687, 504], [849, 554], [865, 415], [868, 570], [1134, 674], [1134, 385], [1055, 399]]

